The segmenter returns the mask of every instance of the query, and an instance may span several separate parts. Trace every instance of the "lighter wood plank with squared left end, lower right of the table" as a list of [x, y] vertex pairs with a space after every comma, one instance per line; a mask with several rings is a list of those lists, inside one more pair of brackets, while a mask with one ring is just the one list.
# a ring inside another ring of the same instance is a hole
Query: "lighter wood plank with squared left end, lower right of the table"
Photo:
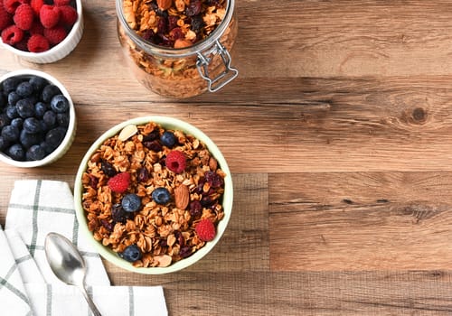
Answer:
[[272, 270], [441, 269], [452, 173], [271, 174]]

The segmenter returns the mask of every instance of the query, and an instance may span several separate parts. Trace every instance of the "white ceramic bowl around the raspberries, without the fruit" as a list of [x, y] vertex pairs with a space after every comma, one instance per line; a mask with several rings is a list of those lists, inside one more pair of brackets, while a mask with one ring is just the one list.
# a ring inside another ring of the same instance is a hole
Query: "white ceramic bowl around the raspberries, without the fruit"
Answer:
[[27, 60], [34, 63], [52, 63], [61, 60], [71, 53], [79, 44], [81, 36], [83, 35], [83, 8], [81, 0], [76, 0], [77, 14], [79, 15], [77, 21], [72, 26], [71, 32], [59, 44], [53, 46], [49, 51], [30, 52], [15, 49], [13, 46], [5, 44], [0, 38], [2, 47], [7, 51], [11, 51], [14, 55], [20, 57], [22, 60]]

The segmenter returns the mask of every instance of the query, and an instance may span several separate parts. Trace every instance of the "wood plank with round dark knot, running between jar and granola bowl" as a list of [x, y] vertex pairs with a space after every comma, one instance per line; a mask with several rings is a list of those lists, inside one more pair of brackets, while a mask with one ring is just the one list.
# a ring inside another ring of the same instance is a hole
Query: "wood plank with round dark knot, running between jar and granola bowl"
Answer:
[[[219, 107], [212, 95], [176, 105], [125, 92], [112, 101], [105, 95], [114, 89], [97, 86], [86, 88], [87, 99], [79, 80], [69, 79], [78, 132], [63, 161], [46, 168], [75, 173], [89, 145], [112, 125], [165, 115], [210, 135], [234, 173], [451, 171], [451, 82], [452, 77], [259, 79], [260, 88], [253, 88], [256, 80], [240, 79], [231, 85], [233, 93], [222, 95], [231, 101]], [[107, 80], [101, 86], [118, 84]], [[276, 88], [285, 101], [273, 94]], [[249, 101], [240, 101], [247, 91]]]

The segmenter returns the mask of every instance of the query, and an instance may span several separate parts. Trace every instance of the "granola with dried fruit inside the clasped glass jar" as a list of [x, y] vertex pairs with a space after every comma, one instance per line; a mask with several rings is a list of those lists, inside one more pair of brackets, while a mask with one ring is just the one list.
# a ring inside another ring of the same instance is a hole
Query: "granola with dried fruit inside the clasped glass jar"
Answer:
[[[168, 4], [168, 9], [161, 9]], [[181, 49], [209, 39], [228, 14], [226, 5], [227, 0], [124, 0], [122, 13], [127, 24], [118, 23], [118, 38], [138, 81], [167, 97], [190, 98], [206, 91], [207, 82], [196, 67], [198, 51], [178, 57], [174, 50], [171, 56], [160, 57], [146, 43]], [[199, 12], [191, 12], [192, 6], [200, 7]], [[138, 42], [130, 36], [130, 30], [137, 33]], [[228, 51], [232, 50], [237, 30], [237, 20], [232, 15], [219, 39]], [[212, 56], [208, 70], [211, 78], [225, 70], [220, 55]]]

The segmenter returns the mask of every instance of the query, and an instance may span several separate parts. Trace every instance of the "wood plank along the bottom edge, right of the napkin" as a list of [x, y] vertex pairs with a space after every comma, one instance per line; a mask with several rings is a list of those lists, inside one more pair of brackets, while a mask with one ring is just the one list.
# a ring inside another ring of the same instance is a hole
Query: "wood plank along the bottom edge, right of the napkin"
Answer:
[[179, 272], [115, 274], [162, 284], [170, 315], [449, 315], [451, 274], [411, 272]]

